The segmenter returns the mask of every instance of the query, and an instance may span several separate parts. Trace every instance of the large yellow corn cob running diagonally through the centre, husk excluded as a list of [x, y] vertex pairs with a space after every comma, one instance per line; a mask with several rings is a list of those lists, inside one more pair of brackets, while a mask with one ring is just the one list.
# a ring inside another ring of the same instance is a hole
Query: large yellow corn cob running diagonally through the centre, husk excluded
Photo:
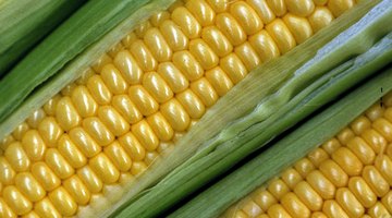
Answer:
[[354, 3], [189, 0], [157, 13], [2, 141], [1, 216], [114, 202], [250, 70]]

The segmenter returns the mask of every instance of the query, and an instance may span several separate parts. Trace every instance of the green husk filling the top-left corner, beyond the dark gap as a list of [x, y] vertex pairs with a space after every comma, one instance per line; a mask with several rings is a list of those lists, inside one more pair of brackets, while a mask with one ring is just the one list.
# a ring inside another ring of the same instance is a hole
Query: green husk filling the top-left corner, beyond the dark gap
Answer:
[[5, 0], [0, 3], [0, 78], [86, 0]]

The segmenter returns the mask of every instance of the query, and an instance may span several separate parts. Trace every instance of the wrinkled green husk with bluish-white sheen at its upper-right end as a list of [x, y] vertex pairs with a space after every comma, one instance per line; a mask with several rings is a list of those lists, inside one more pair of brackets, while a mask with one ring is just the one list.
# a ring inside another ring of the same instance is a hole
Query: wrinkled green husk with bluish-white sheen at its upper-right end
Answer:
[[[377, 5], [360, 22], [322, 48], [314, 59], [297, 70], [293, 69], [289, 73], [293, 76], [278, 92], [264, 98], [254, 112], [223, 129], [201, 145], [196, 155], [149, 191], [130, 201], [127, 206], [118, 209], [113, 217], [159, 215], [387, 65], [392, 56], [392, 34], [384, 36], [391, 31], [388, 26], [392, 20], [390, 3], [383, 1]], [[381, 43], [372, 47], [381, 37]]]

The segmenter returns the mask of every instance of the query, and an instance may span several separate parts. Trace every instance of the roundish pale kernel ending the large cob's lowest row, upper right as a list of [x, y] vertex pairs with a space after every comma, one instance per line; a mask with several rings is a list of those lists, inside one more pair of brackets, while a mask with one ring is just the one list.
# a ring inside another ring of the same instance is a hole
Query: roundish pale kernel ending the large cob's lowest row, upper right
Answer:
[[333, 19], [332, 12], [327, 7], [316, 7], [315, 11], [308, 16], [309, 23], [315, 33], [328, 26]]

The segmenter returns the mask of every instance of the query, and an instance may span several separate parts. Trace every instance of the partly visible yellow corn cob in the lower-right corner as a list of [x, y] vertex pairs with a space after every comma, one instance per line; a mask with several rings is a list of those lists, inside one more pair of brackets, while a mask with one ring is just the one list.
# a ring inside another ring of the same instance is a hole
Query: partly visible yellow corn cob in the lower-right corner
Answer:
[[[382, 105], [380, 105], [382, 102]], [[391, 217], [392, 93], [228, 217]]]

